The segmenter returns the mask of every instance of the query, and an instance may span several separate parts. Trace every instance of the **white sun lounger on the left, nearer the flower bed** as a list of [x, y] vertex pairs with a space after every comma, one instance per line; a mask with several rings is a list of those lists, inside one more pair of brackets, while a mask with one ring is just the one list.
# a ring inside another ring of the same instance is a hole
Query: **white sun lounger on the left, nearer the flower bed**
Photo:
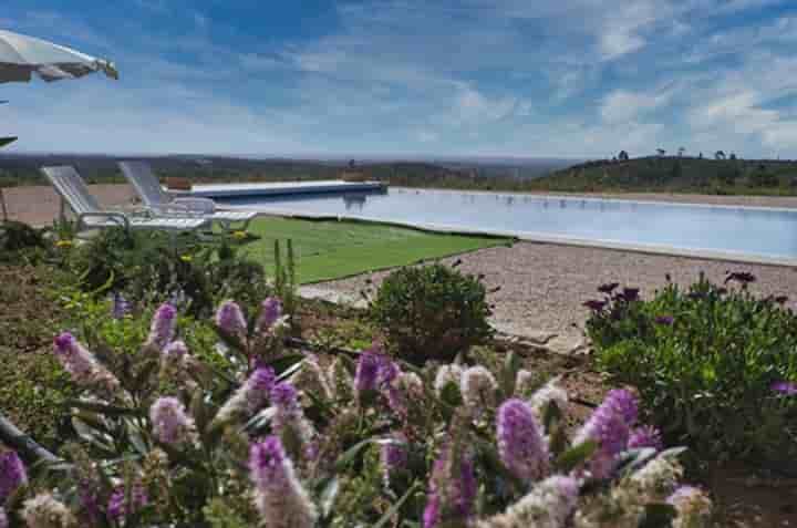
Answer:
[[83, 178], [74, 167], [42, 167], [41, 172], [77, 216], [79, 231], [84, 229], [122, 227], [128, 231], [133, 229], [154, 229], [174, 234], [210, 227], [210, 222], [204, 218], [172, 218], [153, 215], [137, 216], [107, 210], [102, 208], [94, 196], [89, 193], [89, 187], [86, 187], [85, 182], [83, 182]]

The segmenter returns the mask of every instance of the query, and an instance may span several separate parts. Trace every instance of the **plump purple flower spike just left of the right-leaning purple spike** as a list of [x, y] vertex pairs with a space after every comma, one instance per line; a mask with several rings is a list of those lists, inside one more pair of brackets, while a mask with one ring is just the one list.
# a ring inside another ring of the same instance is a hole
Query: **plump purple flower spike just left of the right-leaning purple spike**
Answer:
[[534, 411], [522, 400], [508, 400], [498, 410], [498, 453], [516, 477], [539, 480], [550, 470], [548, 446]]

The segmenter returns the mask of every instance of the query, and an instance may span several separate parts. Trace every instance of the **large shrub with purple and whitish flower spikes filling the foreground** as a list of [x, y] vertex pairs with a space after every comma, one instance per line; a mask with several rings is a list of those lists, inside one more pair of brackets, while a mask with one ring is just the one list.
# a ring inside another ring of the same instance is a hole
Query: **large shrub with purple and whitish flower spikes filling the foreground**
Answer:
[[[483, 366], [400, 364], [374, 345], [324, 361], [280, 346], [276, 299], [216, 324], [227, 371], [157, 310], [139, 353], [55, 354], [84, 392], [64, 463], [0, 457], [0, 527], [700, 527], [711, 501], [677, 488], [636, 400], [613, 391], [566, 433], [556, 382], [526, 397], [509, 356]], [[633, 446], [632, 446], [633, 443]]]

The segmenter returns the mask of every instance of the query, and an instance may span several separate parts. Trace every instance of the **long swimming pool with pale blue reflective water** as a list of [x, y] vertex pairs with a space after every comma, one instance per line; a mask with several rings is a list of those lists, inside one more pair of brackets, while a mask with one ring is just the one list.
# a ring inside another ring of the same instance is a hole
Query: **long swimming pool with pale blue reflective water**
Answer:
[[797, 265], [797, 210], [790, 209], [407, 188], [226, 204], [273, 214]]

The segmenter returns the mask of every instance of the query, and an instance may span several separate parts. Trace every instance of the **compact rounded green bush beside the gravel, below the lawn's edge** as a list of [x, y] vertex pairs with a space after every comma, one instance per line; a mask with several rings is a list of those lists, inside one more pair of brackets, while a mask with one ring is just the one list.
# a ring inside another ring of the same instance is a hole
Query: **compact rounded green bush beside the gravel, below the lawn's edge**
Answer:
[[452, 360], [493, 333], [478, 278], [443, 265], [402, 268], [380, 287], [371, 317], [408, 361]]

